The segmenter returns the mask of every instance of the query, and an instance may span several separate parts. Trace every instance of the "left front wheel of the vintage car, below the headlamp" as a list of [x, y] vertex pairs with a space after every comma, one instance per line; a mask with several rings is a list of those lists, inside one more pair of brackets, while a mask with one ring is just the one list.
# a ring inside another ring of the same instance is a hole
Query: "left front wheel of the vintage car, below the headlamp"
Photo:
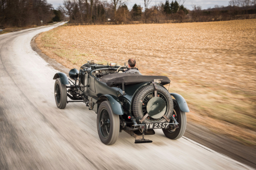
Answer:
[[61, 83], [60, 78], [55, 81], [54, 96], [57, 107], [64, 109], [67, 105], [67, 87]]

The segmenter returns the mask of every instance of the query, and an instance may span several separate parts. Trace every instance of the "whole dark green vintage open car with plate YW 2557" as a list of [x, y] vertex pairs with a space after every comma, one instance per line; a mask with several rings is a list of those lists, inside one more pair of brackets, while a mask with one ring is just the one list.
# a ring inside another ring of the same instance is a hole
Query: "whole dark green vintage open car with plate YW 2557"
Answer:
[[183, 136], [189, 108], [182, 96], [169, 93], [163, 86], [170, 79], [124, 73], [126, 69], [126, 65], [88, 61], [80, 70], [70, 70], [70, 79], [56, 73], [57, 107], [64, 109], [69, 102], [84, 102], [97, 113], [99, 138], [107, 145], [114, 144], [122, 130], [133, 136], [135, 143], [151, 143], [144, 135], [154, 135], [154, 129], [162, 129], [169, 139]]

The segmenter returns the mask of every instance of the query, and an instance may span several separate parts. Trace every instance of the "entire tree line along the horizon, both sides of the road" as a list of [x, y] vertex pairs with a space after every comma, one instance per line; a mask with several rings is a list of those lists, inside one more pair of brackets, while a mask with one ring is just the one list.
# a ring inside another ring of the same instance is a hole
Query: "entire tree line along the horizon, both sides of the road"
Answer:
[[47, 0], [1, 0], [0, 26], [31, 26], [68, 20], [70, 24], [183, 23], [255, 18], [256, 0], [230, 0], [229, 6], [202, 10], [186, 0], [153, 4], [141, 0], [128, 9], [125, 0], [64, 0], [57, 10]]

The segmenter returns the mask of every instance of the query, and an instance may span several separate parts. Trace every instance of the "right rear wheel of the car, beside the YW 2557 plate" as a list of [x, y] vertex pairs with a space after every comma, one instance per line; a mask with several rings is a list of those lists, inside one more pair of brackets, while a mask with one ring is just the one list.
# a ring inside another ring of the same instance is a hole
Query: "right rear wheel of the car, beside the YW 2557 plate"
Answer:
[[[175, 105], [173, 115], [175, 115], [176, 121], [179, 123], [179, 127], [177, 129], [169, 128], [169, 129], [162, 129], [164, 135], [169, 139], [179, 139], [183, 136], [186, 130], [186, 113], [180, 111], [178, 103], [175, 99], [173, 99], [173, 103]], [[172, 121], [172, 119], [171, 119]]]

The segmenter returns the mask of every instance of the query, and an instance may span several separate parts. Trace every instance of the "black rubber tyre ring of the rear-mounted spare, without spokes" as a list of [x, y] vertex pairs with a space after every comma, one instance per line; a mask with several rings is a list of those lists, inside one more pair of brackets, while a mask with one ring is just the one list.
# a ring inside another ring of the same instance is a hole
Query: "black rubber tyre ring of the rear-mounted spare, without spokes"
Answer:
[[[163, 94], [165, 96], [167, 102], [168, 102], [168, 111], [167, 111], [166, 116], [169, 118], [172, 115], [172, 112], [173, 112], [172, 96], [169, 94], [169, 92], [163, 86], [157, 85], [157, 87], [158, 87], [157, 92]], [[147, 90], [145, 91], [145, 93], [143, 95], [140, 96], [140, 93], [143, 93], [144, 89], [147, 89]], [[143, 118], [143, 111], [142, 111], [142, 107], [140, 106], [141, 105], [140, 101], [143, 100], [145, 98], [145, 96], [147, 96], [151, 92], [154, 92], [154, 85], [145, 86], [142, 89], [140, 89], [140, 91], [136, 94], [136, 97], [134, 98], [133, 113], [134, 113], [134, 110], [137, 112], [137, 114], [134, 114], [137, 121], [139, 121], [140, 119]], [[136, 109], [135, 107], [139, 107], [139, 108]], [[145, 119], [143, 122], [144, 123], [154, 123], [154, 122], [148, 121], [147, 119]], [[157, 123], [164, 123], [164, 122], [166, 122], [166, 119], [162, 119]]]

